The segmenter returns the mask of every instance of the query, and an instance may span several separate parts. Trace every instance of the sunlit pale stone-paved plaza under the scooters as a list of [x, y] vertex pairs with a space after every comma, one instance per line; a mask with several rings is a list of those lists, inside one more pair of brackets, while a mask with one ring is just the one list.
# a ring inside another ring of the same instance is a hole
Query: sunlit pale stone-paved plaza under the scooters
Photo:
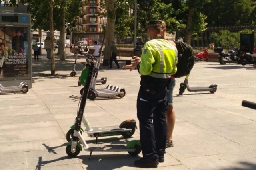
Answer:
[[[129, 58], [129, 57], [127, 57]], [[84, 61], [82, 57], [78, 63]], [[56, 76], [50, 76], [45, 55], [32, 58], [32, 89], [27, 94], [0, 95], [0, 170], [135, 170], [127, 152], [82, 151], [76, 158], [66, 155], [66, 132], [74, 123], [80, 89], [78, 76], [70, 77], [74, 57], [56, 58]], [[125, 62], [120, 62], [124, 65]], [[77, 70], [82, 70], [82, 64]], [[98, 78], [126, 89], [124, 98], [87, 101], [85, 113], [92, 127], [119, 125], [135, 119], [140, 75], [137, 70], [110, 70], [102, 66]], [[256, 102], [256, 70], [252, 66], [197, 63], [189, 85], [218, 84], [215, 94], [185, 91], [178, 95], [184, 78], [174, 88], [174, 147], [166, 149], [159, 170], [256, 170], [256, 111], [241, 106]], [[97, 85], [97, 88], [105, 88]], [[139, 129], [133, 139], [139, 139]], [[95, 139], [83, 134], [90, 146]], [[125, 145], [123, 137], [103, 137], [98, 145]], [[139, 155], [142, 156], [142, 153]]]

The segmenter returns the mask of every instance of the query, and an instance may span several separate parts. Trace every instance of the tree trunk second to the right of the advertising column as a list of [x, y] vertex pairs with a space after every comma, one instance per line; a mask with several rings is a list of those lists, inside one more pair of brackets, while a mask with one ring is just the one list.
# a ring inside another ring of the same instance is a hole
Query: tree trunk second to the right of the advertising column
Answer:
[[60, 54], [60, 60], [65, 60], [66, 59], [66, 53], [65, 53], [65, 8], [64, 5], [62, 5], [61, 8], [61, 15], [60, 15], [60, 20], [61, 20], [61, 27], [60, 27], [60, 41], [59, 41], [59, 54]]

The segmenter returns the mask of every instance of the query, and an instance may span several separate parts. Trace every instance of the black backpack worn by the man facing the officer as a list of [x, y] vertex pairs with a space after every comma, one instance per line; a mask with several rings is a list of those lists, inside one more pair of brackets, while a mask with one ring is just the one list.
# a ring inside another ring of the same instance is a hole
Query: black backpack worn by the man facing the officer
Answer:
[[190, 74], [190, 71], [194, 66], [194, 50], [190, 45], [184, 43], [182, 40], [178, 40], [175, 43], [176, 48], [178, 50], [178, 63], [176, 65], [177, 72], [174, 74], [174, 77], [181, 78], [183, 76]]

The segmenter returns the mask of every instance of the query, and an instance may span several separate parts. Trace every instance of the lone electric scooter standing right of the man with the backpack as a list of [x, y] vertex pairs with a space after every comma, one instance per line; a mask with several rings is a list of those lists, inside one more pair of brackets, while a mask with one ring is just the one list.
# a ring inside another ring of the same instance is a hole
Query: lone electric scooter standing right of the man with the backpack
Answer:
[[212, 84], [209, 87], [189, 87], [188, 86], [188, 76], [186, 76], [185, 80], [183, 83], [180, 83], [180, 89], [179, 89], [179, 94], [182, 95], [185, 92], [185, 89], [189, 92], [210, 92], [210, 93], [215, 93], [217, 91], [217, 86], [216, 84]]

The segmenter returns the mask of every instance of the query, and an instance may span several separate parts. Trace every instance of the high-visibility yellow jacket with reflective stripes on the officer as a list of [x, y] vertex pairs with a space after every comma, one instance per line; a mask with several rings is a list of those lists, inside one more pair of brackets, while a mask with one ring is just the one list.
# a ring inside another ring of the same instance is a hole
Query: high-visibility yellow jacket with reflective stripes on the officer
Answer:
[[142, 76], [170, 78], [177, 71], [177, 48], [165, 39], [152, 39], [142, 49], [138, 68]]

